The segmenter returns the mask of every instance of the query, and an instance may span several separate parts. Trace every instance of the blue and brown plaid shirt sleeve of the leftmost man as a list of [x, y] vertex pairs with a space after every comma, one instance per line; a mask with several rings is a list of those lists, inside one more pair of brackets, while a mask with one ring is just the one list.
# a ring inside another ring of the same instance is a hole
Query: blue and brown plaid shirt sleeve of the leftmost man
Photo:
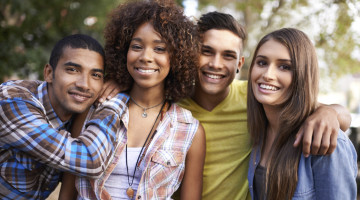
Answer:
[[0, 147], [24, 152], [51, 167], [98, 178], [120, 137], [120, 118], [128, 96], [118, 94], [100, 105], [85, 124], [81, 136], [72, 138], [54, 129], [29, 99], [0, 99]]

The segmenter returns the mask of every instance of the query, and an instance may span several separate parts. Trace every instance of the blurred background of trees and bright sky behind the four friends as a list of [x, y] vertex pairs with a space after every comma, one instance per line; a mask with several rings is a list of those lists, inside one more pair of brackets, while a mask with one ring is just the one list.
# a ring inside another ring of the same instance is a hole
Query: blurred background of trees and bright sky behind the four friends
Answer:
[[[304, 31], [317, 48], [319, 101], [337, 103], [352, 113], [348, 134], [360, 141], [360, 1], [358, 0], [175, 0], [186, 15], [221, 11], [246, 27], [245, 66], [257, 41], [282, 27]], [[74, 33], [103, 42], [107, 14], [123, 0], [0, 0], [0, 82], [40, 79], [57, 40]], [[359, 136], [358, 136], [359, 135]]]

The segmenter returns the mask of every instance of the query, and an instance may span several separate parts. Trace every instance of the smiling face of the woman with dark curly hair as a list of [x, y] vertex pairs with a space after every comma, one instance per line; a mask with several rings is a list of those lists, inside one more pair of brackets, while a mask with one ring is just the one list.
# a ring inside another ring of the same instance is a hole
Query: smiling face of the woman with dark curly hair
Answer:
[[135, 31], [127, 54], [127, 70], [134, 79], [134, 87], [160, 88], [170, 71], [169, 53], [160, 34], [150, 23]]

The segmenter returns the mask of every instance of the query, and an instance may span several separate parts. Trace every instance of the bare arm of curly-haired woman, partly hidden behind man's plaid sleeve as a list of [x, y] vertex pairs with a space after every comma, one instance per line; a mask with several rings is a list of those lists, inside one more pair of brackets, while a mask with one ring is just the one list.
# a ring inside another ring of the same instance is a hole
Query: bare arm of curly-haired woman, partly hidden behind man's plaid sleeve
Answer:
[[[80, 135], [81, 129], [83, 127], [84, 121], [86, 119], [86, 116], [88, 114], [89, 110], [83, 112], [82, 114], [78, 114], [75, 116], [75, 119], [73, 121], [73, 124], [71, 126], [71, 137], [76, 138]], [[62, 176], [62, 184], [61, 189], [59, 193], [59, 200], [71, 200], [76, 199], [77, 197], [77, 191], [75, 188], [75, 178], [76, 176], [64, 172]]]

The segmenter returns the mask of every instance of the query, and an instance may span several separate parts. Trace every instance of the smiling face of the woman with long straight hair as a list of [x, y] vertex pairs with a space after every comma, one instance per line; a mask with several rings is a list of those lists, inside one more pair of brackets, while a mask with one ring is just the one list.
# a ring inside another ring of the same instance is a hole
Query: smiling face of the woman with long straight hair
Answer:
[[250, 76], [254, 96], [263, 106], [278, 106], [287, 100], [291, 66], [290, 54], [281, 43], [270, 39], [259, 48]]

